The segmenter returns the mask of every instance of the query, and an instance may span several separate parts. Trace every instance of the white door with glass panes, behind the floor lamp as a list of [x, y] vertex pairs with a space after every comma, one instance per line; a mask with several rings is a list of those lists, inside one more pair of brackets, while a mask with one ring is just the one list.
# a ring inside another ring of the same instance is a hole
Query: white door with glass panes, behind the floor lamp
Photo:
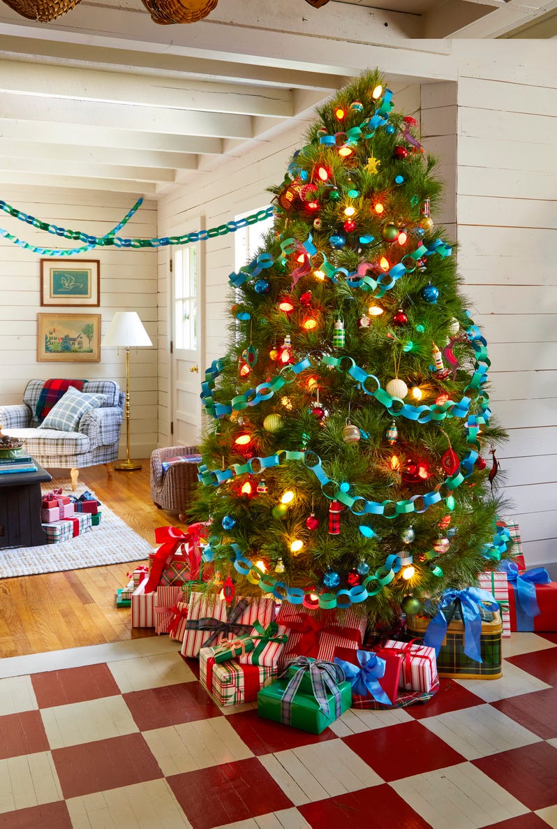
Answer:
[[[199, 229], [199, 225], [195, 229]], [[184, 232], [194, 230], [188, 227]], [[201, 245], [173, 249], [172, 255], [172, 434], [176, 446], [193, 446], [201, 435], [201, 379], [204, 296]]]

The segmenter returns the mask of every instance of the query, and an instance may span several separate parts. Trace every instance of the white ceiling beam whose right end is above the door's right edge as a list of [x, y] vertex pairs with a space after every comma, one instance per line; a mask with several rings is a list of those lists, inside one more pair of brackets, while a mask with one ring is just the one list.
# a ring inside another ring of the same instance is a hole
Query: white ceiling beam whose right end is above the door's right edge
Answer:
[[[0, 127], [0, 134], [4, 129]], [[42, 136], [41, 136], [42, 138]], [[157, 167], [196, 170], [197, 156], [189, 153], [157, 153], [109, 147], [74, 146], [39, 141], [8, 141], [0, 137], [0, 156], [6, 158], [42, 158], [45, 161], [71, 161], [90, 164], [117, 164], [121, 167]], [[156, 176], [153, 177], [157, 178]]]

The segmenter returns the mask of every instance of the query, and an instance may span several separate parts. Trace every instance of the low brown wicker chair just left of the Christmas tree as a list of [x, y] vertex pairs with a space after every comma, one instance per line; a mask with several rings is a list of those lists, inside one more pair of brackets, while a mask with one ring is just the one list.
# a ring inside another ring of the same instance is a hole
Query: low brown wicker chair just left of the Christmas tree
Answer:
[[197, 483], [197, 464], [176, 463], [164, 473], [162, 461], [198, 453], [196, 446], [170, 446], [151, 453], [151, 497], [156, 507], [172, 512], [186, 509]]

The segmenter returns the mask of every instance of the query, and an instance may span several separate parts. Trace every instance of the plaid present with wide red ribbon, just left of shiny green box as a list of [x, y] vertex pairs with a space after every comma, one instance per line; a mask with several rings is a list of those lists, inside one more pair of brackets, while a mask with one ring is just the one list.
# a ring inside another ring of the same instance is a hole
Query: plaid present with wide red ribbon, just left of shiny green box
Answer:
[[[217, 646], [219, 647], [219, 646]], [[240, 665], [240, 662], [216, 662], [213, 647], [199, 652], [199, 680], [220, 705], [252, 702], [264, 685], [279, 674], [276, 667]]]

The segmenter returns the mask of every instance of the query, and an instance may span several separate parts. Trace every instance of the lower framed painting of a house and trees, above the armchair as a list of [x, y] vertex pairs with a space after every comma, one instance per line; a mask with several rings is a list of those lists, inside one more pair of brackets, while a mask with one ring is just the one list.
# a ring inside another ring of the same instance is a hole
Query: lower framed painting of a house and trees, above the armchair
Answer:
[[36, 315], [38, 362], [99, 362], [99, 313]]

